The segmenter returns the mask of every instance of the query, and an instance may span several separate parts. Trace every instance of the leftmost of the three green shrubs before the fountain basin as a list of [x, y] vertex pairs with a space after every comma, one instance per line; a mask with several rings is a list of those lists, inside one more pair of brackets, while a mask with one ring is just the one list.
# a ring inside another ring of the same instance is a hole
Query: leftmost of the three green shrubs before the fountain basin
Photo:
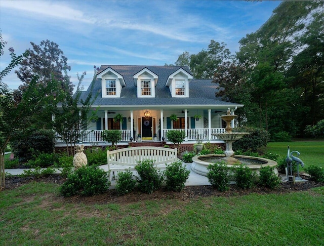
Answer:
[[207, 167], [208, 181], [219, 191], [226, 191], [229, 188], [228, 168], [225, 161], [210, 164]]

